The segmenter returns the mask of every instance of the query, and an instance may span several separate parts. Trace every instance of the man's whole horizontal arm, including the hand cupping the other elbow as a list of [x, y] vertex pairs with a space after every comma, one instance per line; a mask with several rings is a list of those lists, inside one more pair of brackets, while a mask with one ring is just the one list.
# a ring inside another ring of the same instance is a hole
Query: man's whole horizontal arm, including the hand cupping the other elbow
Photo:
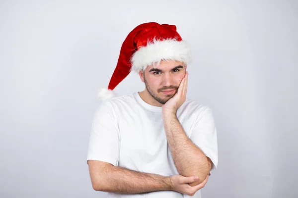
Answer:
[[164, 177], [113, 166], [110, 163], [98, 160], [88, 160], [88, 164], [93, 189], [117, 194], [175, 191], [193, 196], [208, 181], [207, 177], [204, 182], [191, 187], [188, 184], [197, 181], [197, 176], [183, 177], [181, 175], [173, 175]]

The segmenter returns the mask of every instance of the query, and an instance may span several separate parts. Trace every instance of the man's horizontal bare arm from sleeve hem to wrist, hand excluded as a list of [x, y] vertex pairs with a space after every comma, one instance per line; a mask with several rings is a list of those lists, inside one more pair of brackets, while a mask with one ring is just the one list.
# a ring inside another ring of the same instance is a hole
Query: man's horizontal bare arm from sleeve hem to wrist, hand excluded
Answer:
[[96, 191], [140, 194], [171, 190], [171, 178], [142, 173], [110, 163], [88, 160], [92, 187]]

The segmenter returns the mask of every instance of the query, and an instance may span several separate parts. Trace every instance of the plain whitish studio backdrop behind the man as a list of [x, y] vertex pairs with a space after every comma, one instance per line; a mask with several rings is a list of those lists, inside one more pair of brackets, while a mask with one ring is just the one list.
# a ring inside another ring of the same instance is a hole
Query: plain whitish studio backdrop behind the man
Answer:
[[[210, 106], [219, 166], [203, 198], [298, 194], [298, 1], [1, 0], [0, 197], [99, 198], [91, 120], [137, 25], [192, 45], [188, 98]], [[130, 74], [118, 95], [142, 91]]]

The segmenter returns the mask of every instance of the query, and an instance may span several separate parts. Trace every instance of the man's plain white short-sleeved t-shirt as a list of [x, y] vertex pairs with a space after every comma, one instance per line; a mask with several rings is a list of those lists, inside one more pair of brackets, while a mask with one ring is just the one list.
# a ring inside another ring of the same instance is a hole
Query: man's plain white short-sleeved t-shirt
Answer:
[[[212, 110], [191, 99], [181, 105], [177, 118], [187, 136], [218, 165], [217, 131]], [[97, 109], [89, 140], [87, 160], [100, 160], [131, 170], [170, 176], [174, 165], [159, 106], [145, 102], [135, 92], [104, 101]], [[188, 198], [174, 191], [119, 195], [107, 198]], [[201, 198], [201, 191], [192, 198]]]

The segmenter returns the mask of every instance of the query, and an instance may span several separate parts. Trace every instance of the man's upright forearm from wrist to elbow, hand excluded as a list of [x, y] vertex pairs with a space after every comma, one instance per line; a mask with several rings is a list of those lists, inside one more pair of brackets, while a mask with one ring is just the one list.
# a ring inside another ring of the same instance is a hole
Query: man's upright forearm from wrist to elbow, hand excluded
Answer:
[[199, 181], [195, 184], [203, 182], [211, 168], [211, 163], [208, 161], [208, 158], [203, 151], [187, 137], [176, 114], [165, 114], [163, 116], [163, 122], [177, 171], [180, 175], [185, 177], [197, 175]]

